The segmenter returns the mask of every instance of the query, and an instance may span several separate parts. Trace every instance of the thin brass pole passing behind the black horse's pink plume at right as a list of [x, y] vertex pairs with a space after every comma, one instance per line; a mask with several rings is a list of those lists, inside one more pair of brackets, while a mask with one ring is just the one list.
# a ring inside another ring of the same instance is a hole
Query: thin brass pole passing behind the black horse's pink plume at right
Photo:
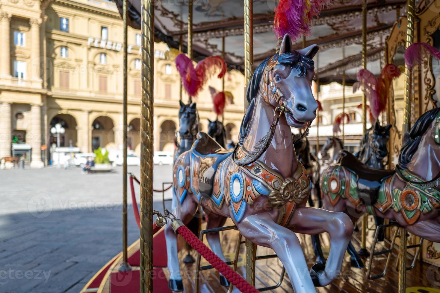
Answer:
[[[367, 69], [367, 0], [362, 1], [362, 68]], [[367, 132], [367, 96], [362, 94], [362, 137]], [[367, 214], [362, 217], [360, 255], [367, 255]]]

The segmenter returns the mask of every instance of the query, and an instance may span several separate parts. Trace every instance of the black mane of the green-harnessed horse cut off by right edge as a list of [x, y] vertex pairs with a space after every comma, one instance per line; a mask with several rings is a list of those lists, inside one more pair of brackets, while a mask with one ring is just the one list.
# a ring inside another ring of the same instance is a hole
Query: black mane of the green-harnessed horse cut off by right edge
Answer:
[[404, 139], [407, 141], [399, 155], [399, 165], [402, 168], [406, 168], [411, 162], [414, 153], [417, 151], [418, 145], [422, 140], [423, 134], [425, 134], [428, 127], [431, 125], [434, 119], [436, 119], [440, 108], [432, 109], [420, 116], [414, 123], [411, 130], [405, 135]]

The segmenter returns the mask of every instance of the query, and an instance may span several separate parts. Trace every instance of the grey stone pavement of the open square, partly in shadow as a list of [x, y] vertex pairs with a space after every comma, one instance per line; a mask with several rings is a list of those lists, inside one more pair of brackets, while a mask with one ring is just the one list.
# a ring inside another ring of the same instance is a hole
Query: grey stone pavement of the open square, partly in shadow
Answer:
[[[139, 166], [128, 171], [139, 178]], [[155, 166], [154, 188], [169, 181], [171, 166]], [[136, 182], [135, 190], [139, 203]], [[161, 198], [155, 193], [160, 211]], [[0, 293], [78, 293], [121, 251], [121, 167], [111, 174], [81, 174], [76, 167], [0, 170], [0, 200]], [[129, 184], [128, 204], [131, 244], [139, 229]]]

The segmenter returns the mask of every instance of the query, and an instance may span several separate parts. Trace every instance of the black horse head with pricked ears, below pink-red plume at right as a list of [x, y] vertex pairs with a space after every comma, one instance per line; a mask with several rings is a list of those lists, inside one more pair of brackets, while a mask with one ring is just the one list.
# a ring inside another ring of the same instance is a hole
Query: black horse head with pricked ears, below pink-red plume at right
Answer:
[[361, 142], [361, 145], [365, 145], [365, 148], [371, 148], [371, 151], [378, 160], [383, 160], [388, 156], [387, 145], [391, 127], [391, 124], [381, 126], [378, 121], [376, 121], [374, 126], [367, 131]]

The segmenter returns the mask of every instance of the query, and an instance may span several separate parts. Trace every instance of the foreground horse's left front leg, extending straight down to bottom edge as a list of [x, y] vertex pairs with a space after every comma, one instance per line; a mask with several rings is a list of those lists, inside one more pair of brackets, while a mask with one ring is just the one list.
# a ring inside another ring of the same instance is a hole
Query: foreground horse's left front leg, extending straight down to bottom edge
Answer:
[[245, 217], [237, 227], [246, 239], [275, 251], [286, 268], [295, 293], [316, 292], [295, 233], [276, 224], [268, 212]]

